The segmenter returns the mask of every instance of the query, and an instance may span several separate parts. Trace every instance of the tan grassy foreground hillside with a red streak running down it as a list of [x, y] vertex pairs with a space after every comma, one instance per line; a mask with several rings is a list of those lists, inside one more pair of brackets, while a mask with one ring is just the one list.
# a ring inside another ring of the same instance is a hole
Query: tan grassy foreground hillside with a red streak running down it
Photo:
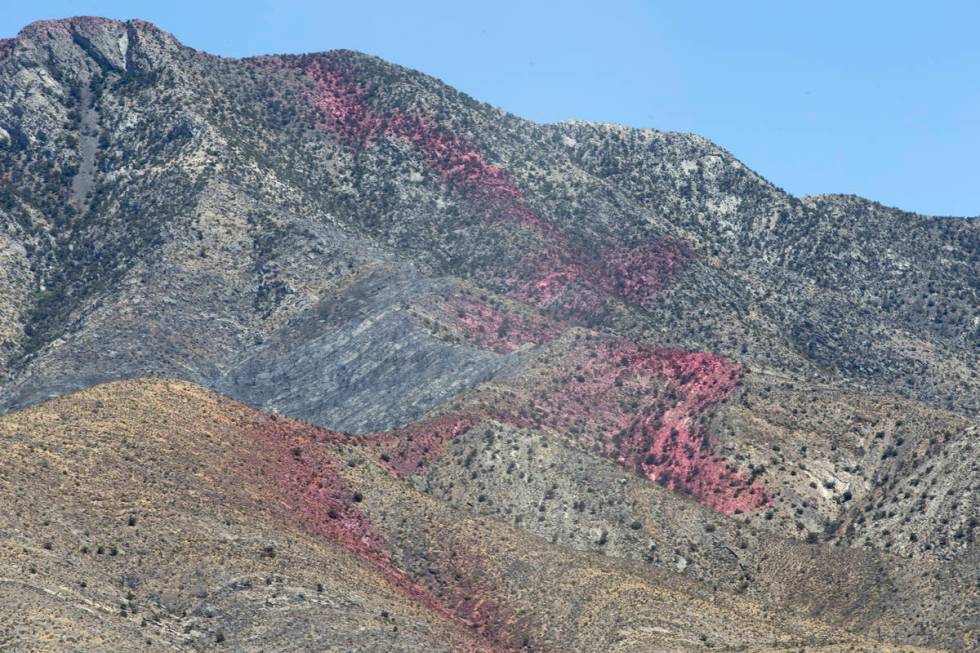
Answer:
[[358, 439], [187, 383], [99, 386], [0, 437], [11, 650], [891, 650], [467, 517]]

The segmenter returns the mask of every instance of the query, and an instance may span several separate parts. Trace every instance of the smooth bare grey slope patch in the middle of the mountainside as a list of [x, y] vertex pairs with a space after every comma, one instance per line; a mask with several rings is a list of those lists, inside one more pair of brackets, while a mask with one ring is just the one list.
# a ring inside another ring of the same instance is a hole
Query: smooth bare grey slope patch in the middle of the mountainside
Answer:
[[490, 379], [507, 360], [436, 338], [403, 308], [439, 286], [447, 284], [382, 275], [355, 282], [284, 326], [215, 385], [344, 431], [406, 426]]

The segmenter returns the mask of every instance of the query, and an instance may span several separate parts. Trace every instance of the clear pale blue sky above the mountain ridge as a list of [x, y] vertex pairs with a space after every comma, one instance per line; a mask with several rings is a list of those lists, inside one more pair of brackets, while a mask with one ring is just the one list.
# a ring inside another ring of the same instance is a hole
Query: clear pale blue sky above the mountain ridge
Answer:
[[980, 215], [980, 2], [0, 0], [227, 56], [350, 48], [539, 122], [695, 132], [797, 194]]

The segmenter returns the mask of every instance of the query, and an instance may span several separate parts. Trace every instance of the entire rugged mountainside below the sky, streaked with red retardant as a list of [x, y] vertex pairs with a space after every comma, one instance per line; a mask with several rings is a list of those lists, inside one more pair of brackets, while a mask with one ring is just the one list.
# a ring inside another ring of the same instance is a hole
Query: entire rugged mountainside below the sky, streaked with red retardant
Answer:
[[0, 42], [0, 637], [967, 650], [978, 252], [359, 53], [33, 23]]

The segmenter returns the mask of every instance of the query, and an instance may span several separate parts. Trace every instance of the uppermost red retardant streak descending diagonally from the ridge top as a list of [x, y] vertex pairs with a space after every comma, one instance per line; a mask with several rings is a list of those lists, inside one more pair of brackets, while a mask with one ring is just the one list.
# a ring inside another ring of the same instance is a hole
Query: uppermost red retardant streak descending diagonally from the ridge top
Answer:
[[[605, 245], [589, 259], [575, 251], [557, 225], [532, 211], [510, 174], [487, 161], [474, 145], [429, 117], [401, 111], [382, 116], [373, 111], [350, 63], [330, 54], [255, 61], [298, 69], [310, 82], [310, 101], [318, 110], [320, 126], [354, 151], [381, 137], [404, 140], [486, 219], [518, 224], [545, 238], [544, 251], [530, 259], [524, 271], [532, 279], [512, 280], [512, 294], [518, 299], [539, 307], [567, 302], [565, 308], [588, 312], [601, 304], [600, 293], [608, 293], [650, 308], [690, 257], [682, 244], [664, 240], [636, 249]], [[575, 292], [566, 293], [569, 289]]]

